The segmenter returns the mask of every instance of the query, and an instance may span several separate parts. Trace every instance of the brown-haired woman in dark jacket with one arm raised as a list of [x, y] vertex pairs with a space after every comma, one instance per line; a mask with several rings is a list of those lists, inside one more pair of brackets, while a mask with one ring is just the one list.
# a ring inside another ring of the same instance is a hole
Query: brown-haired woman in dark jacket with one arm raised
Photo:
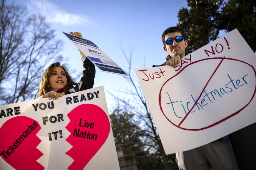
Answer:
[[[79, 32], [70, 32], [72, 35], [82, 38]], [[78, 49], [79, 50], [79, 49]], [[46, 98], [56, 100], [65, 94], [86, 90], [93, 87], [95, 77], [94, 64], [80, 50], [80, 56], [83, 63], [83, 72], [80, 81], [75, 83], [68, 73], [65, 65], [59, 62], [52, 63], [43, 74], [39, 86], [38, 98]]]

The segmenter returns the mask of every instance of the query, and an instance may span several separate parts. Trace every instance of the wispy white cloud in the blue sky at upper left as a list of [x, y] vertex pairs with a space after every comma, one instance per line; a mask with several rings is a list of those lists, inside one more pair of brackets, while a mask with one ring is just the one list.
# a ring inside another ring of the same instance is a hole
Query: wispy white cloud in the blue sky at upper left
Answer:
[[75, 24], [81, 25], [89, 22], [86, 16], [68, 13], [47, 1], [30, 0], [30, 2], [27, 3], [27, 8], [31, 13], [39, 13], [45, 16], [49, 23], [67, 26]]

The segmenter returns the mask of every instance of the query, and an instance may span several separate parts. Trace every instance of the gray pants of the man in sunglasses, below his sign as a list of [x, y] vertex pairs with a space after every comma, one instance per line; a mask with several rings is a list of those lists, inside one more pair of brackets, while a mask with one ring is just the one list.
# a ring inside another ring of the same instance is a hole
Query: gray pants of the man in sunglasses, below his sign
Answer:
[[230, 140], [217, 140], [184, 152], [176, 153], [180, 170], [238, 170]]

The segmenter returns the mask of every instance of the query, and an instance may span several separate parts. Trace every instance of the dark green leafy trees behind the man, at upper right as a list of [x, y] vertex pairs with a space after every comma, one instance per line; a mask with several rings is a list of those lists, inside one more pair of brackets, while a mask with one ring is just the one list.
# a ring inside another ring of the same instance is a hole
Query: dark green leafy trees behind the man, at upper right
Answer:
[[189, 46], [198, 49], [217, 39], [220, 30], [237, 28], [249, 46], [256, 50], [255, 0], [187, 0], [188, 8], [178, 12], [177, 26], [184, 29]]

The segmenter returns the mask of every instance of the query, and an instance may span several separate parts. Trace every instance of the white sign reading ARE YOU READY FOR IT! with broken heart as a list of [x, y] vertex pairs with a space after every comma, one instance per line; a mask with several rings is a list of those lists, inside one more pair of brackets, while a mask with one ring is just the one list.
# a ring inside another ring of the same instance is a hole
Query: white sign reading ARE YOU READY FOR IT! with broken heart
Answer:
[[1, 169], [119, 169], [103, 86], [0, 109]]

